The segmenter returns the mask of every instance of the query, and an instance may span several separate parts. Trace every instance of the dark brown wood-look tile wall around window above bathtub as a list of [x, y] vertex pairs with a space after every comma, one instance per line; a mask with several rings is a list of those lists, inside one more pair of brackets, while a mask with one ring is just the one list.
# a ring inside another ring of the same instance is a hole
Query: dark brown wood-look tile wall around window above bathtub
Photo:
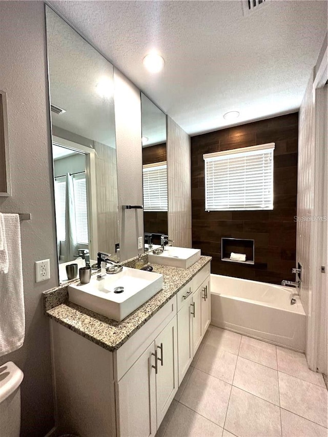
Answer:
[[[274, 142], [273, 211], [205, 211], [203, 154]], [[298, 113], [191, 138], [192, 240], [211, 272], [280, 284], [295, 280]], [[221, 261], [221, 238], [255, 240], [255, 264]]]

